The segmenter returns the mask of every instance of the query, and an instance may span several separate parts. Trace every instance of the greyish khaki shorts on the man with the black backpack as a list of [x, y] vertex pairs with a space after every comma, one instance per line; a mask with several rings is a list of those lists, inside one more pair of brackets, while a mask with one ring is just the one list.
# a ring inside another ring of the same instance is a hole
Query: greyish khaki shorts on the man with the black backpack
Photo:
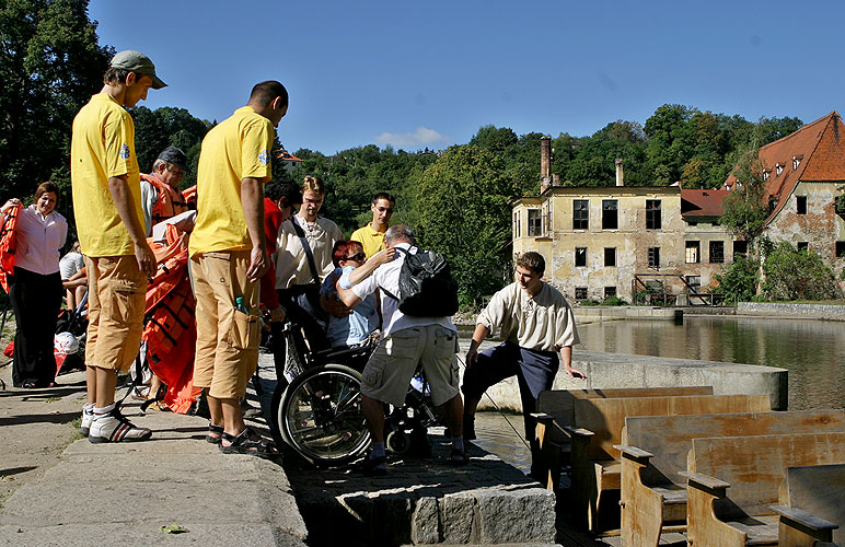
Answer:
[[404, 328], [384, 338], [363, 369], [361, 393], [402, 406], [417, 365], [431, 387], [431, 400], [442, 405], [458, 395], [458, 333], [440, 325]]

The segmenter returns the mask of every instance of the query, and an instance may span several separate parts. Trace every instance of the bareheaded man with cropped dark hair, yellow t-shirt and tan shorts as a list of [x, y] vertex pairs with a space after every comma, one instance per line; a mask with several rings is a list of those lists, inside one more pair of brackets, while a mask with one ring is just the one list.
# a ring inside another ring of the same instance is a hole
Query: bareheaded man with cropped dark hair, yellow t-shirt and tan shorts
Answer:
[[264, 184], [270, 179], [274, 127], [288, 91], [262, 82], [246, 106], [202, 139], [190, 274], [197, 299], [194, 385], [208, 388], [208, 441], [224, 453], [277, 454], [243, 420], [240, 399], [258, 363], [258, 280], [269, 266]]

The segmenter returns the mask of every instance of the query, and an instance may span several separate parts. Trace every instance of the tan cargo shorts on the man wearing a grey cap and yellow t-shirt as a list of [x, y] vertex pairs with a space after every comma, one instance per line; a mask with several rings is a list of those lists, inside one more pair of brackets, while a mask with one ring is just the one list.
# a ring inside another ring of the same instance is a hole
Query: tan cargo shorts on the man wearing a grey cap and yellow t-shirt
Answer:
[[126, 372], [141, 346], [147, 277], [135, 255], [85, 257], [85, 364]]

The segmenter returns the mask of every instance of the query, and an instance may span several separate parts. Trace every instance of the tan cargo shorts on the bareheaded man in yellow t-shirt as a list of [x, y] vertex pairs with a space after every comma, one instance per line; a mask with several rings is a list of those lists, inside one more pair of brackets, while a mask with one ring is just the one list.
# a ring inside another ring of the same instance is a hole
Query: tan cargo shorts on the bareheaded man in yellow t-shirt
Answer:
[[[197, 299], [194, 385], [219, 399], [240, 399], [258, 364], [258, 283], [246, 280], [248, 251], [204, 253], [190, 258]], [[248, 313], [235, 309], [243, 296]]]

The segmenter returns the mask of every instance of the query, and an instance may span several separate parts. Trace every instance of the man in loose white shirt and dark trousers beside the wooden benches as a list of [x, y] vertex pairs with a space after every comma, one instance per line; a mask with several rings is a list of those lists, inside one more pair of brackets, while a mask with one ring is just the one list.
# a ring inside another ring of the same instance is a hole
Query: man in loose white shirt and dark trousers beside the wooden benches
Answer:
[[[478, 315], [462, 386], [466, 440], [475, 439], [475, 409], [484, 392], [516, 375], [525, 437], [533, 449], [536, 421], [531, 412], [536, 411], [540, 392], [552, 388], [560, 361], [571, 377], [587, 379], [583, 372], [572, 369], [572, 346], [579, 342], [572, 309], [557, 289], [542, 280], [544, 270], [545, 260], [539, 253], [520, 256], [517, 281], [494, 294]], [[478, 353], [478, 346], [496, 329], [501, 330], [505, 341]]]

